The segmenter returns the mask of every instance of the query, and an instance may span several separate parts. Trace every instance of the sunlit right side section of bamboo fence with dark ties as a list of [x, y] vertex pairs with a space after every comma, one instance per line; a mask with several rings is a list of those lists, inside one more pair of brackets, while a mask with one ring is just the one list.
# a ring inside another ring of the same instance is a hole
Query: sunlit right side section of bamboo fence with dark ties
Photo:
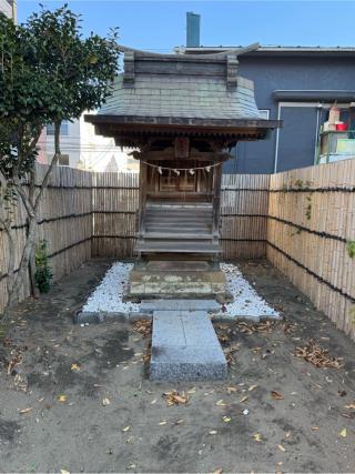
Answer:
[[274, 174], [267, 259], [355, 339], [355, 160]]

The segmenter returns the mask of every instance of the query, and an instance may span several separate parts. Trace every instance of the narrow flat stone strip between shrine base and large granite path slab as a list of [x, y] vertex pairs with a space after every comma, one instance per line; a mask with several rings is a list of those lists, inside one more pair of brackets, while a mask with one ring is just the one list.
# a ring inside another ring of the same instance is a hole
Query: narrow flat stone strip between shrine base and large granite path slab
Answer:
[[219, 311], [215, 300], [144, 300], [140, 310], [144, 311]]

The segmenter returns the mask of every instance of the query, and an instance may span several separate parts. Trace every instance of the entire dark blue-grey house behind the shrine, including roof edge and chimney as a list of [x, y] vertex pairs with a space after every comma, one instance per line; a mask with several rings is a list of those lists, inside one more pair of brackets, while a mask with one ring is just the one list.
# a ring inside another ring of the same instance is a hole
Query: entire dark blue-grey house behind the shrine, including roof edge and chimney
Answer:
[[[199, 16], [186, 17], [187, 46], [175, 48], [176, 53], [233, 49], [200, 47]], [[239, 61], [241, 75], [254, 81], [261, 113], [266, 119], [283, 120], [283, 128], [266, 141], [237, 144], [236, 159], [225, 163], [225, 172], [272, 173], [312, 165], [318, 162], [327, 140], [334, 142], [327, 157], [331, 161], [355, 157], [354, 132], [335, 132], [335, 137], [326, 138], [322, 133], [334, 103], [341, 109], [339, 120], [349, 130], [355, 129], [355, 48], [261, 46], [240, 56]], [[336, 144], [338, 138], [342, 147]]]

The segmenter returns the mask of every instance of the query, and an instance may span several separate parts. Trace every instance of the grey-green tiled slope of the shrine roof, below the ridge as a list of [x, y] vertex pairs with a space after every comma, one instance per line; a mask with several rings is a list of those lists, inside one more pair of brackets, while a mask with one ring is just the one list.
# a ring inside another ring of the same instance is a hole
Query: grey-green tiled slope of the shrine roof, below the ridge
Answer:
[[261, 119], [251, 81], [237, 78], [237, 87], [227, 90], [223, 77], [173, 74], [139, 74], [133, 85], [124, 84], [120, 74], [99, 114]]

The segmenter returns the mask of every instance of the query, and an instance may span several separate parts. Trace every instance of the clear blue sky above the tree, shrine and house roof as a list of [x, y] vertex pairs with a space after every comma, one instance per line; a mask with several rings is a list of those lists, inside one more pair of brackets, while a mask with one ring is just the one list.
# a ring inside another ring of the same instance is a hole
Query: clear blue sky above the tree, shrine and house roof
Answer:
[[[42, 1], [48, 8], [63, 1]], [[171, 51], [185, 44], [185, 12], [201, 14], [203, 46], [255, 41], [284, 46], [355, 46], [355, 1], [121, 1], [69, 0], [83, 17], [84, 32], [105, 34], [120, 27], [121, 43]], [[18, 0], [19, 21], [39, 1]]]

